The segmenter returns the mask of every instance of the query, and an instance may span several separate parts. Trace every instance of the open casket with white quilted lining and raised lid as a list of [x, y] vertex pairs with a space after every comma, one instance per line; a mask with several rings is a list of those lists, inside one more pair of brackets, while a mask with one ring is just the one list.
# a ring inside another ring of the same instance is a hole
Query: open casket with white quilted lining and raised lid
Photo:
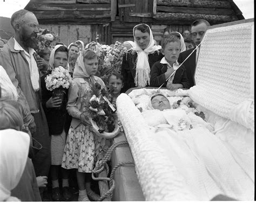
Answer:
[[156, 89], [135, 89], [117, 99], [145, 200], [211, 200], [218, 194], [253, 200], [253, 19], [208, 28], [195, 80], [190, 90], [161, 93], [171, 104], [189, 96], [213, 130], [195, 125], [170, 134], [150, 126], [158, 117], [149, 114], [149, 121], [138, 107]]

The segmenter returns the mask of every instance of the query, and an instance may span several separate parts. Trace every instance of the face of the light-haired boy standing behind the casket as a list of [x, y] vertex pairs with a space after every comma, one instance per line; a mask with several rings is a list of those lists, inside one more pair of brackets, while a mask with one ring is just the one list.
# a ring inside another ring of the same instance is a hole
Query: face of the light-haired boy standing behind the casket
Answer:
[[171, 65], [176, 62], [176, 60], [179, 57], [179, 53], [180, 53], [180, 43], [178, 42], [169, 42], [168, 44], [166, 44], [163, 50], [165, 59]]

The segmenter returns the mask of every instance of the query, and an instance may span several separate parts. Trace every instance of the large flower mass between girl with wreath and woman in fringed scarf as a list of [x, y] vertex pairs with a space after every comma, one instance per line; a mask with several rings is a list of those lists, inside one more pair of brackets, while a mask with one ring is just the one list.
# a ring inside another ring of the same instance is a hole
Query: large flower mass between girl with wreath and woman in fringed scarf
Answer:
[[123, 54], [126, 48], [120, 42], [112, 45], [96, 44], [96, 53], [99, 57], [99, 77], [106, 82], [109, 73], [113, 70], [121, 72]]

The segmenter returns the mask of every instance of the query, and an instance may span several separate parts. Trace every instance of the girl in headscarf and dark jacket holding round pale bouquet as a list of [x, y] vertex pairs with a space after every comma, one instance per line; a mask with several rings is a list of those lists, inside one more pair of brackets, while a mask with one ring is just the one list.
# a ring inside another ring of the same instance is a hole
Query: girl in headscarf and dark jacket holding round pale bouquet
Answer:
[[[72, 83], [71, 76], [68, 70], [66, 70], [68, 57], [68, 49], [63, 45], [56, 45], [50, 55], [49, 71], [41, 79], [43, 108], [51, 135], [50, 173], [53, 201], [60, 201], [59, 171], [61, 171], [62, 174], [63, 199], [67, 201], [72, 197], [69, 187], [68, 170], [60, 167], [66, 143], [66, 133], [68, 133], [71, 122], [71, 117], [66, 112], [68, 88]], [[63, 100], [59, 97], [52, 96], [52, 92], [56, 88], [62, 88], [62, 91], [65, 92]]]

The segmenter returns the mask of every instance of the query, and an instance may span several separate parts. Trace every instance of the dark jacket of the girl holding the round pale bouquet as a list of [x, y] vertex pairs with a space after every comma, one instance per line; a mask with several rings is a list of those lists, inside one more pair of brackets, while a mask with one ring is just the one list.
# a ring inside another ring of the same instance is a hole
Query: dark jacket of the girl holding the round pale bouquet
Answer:
[[45, 116], [47, 119], [49, 134], [50, 135], [58, 135], [61, 134], [63, 128], [66, 133], [69, 131], [69, 127], [71, 124], [72, 117], [69, 116], [66, 111], [66, 104], [68, 103], [68, 89], [65, 89], [65, 94], [63, 98], [62, 107], [60, 110], [56, 110], [55, 108], [46, 108], [46, 101], [52, 97], [52, 91], [46, 89], [45, 81], [47, 75], [51, 73], [48, 72], [46, 75], [41, 78], [41, 87], [42, 87], [42, 105], [45, 112]]

